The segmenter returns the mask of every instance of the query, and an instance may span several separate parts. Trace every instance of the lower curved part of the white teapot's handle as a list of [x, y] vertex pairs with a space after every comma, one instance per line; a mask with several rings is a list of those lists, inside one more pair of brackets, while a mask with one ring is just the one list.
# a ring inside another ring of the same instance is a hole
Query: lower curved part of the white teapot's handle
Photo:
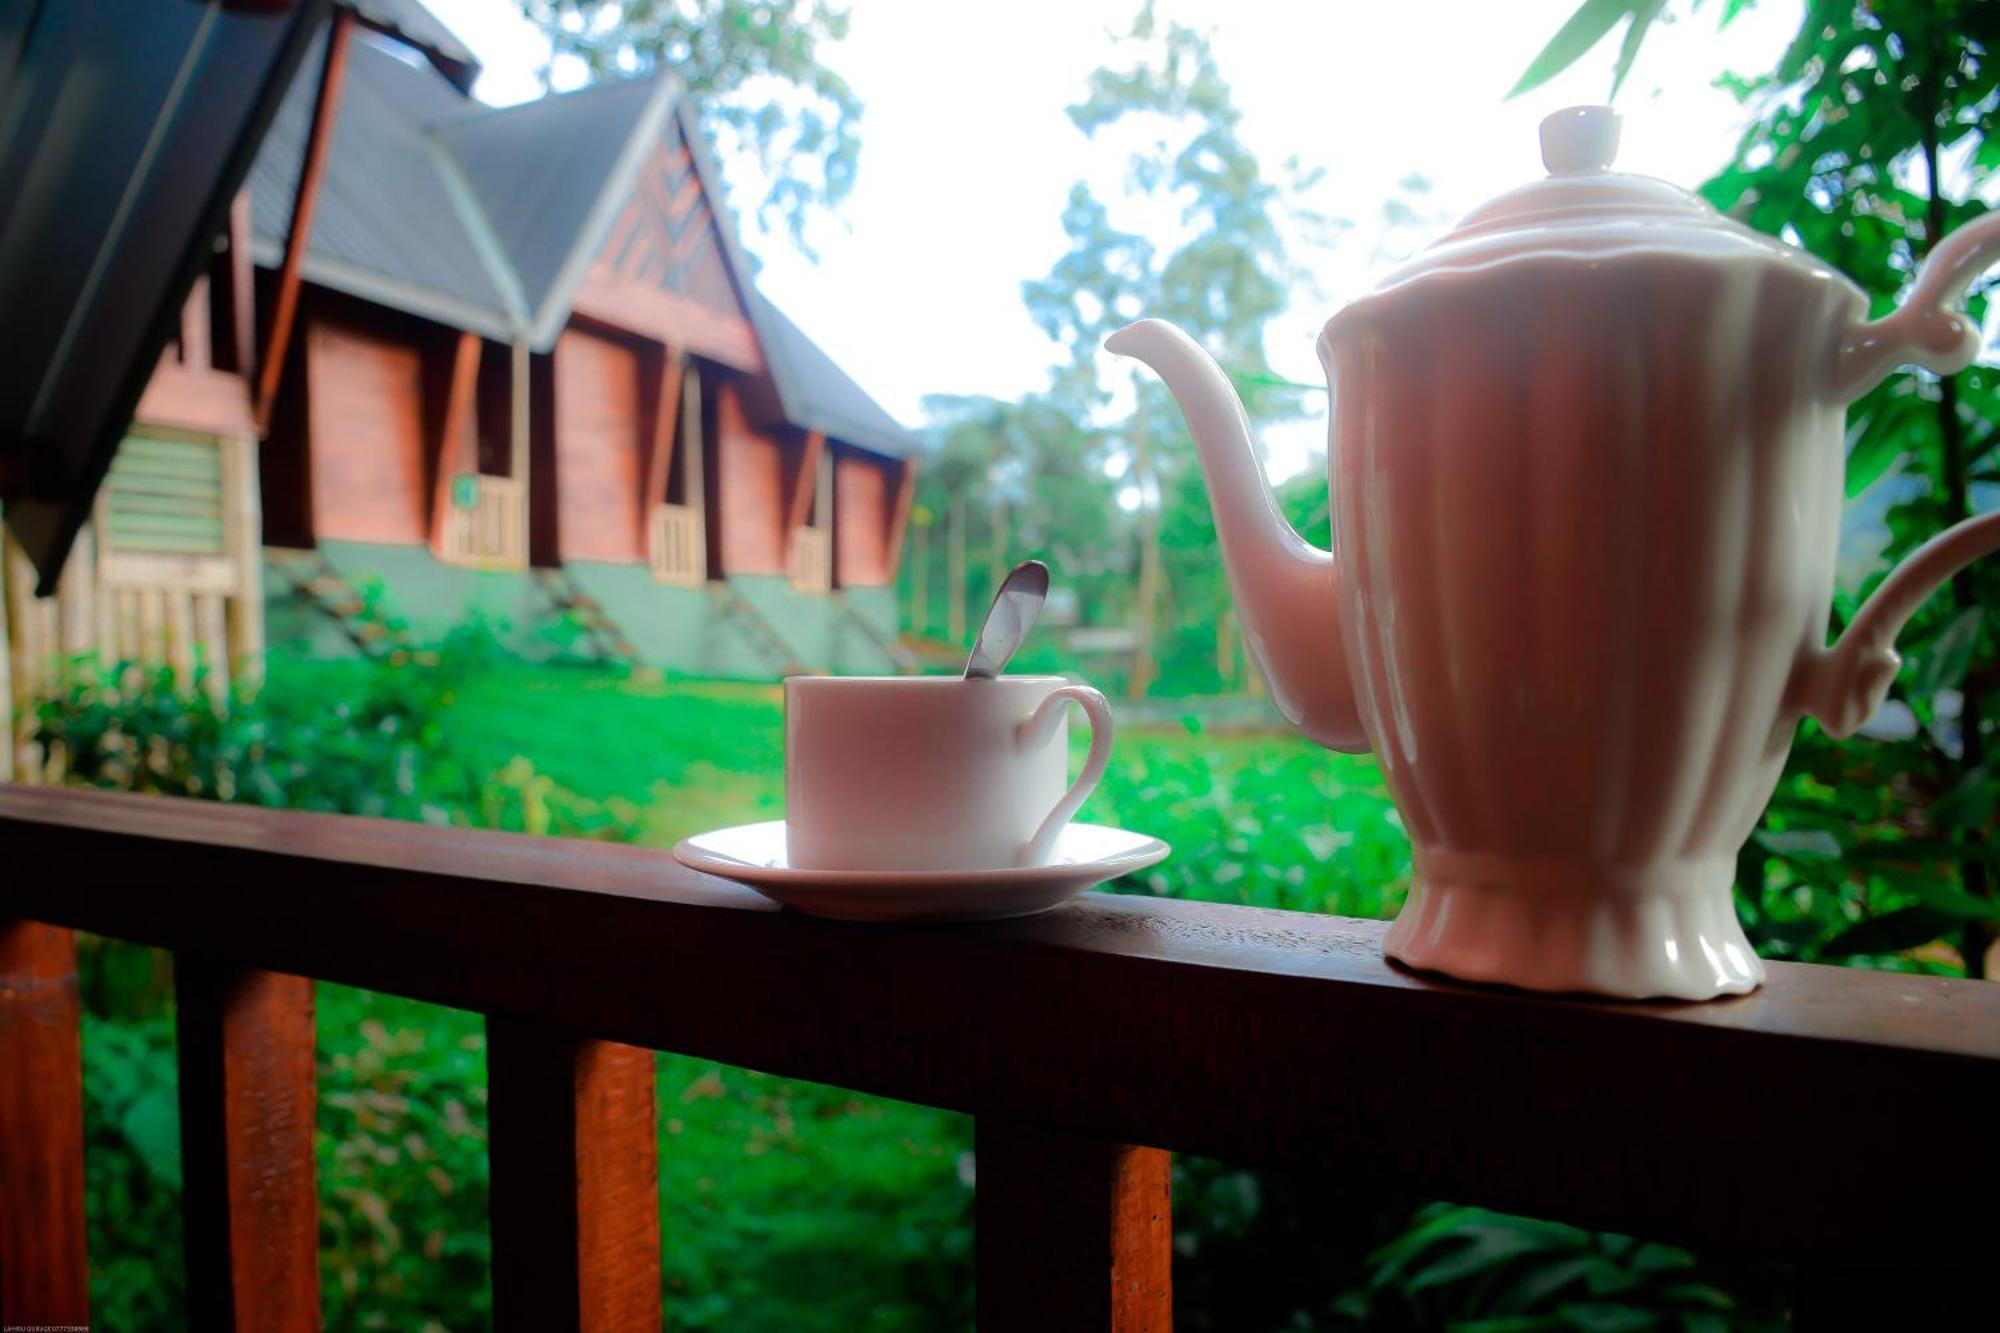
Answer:
[[1832, 648], [1808, 648], [1792, 671], [1792, 713], [1818, 719], [1836, 741], [1874, 717], [1896, 681], [1896, 634], [1946, 578], [2000, 550], [2000, 512], [1952, 524], [1904, 556]]

